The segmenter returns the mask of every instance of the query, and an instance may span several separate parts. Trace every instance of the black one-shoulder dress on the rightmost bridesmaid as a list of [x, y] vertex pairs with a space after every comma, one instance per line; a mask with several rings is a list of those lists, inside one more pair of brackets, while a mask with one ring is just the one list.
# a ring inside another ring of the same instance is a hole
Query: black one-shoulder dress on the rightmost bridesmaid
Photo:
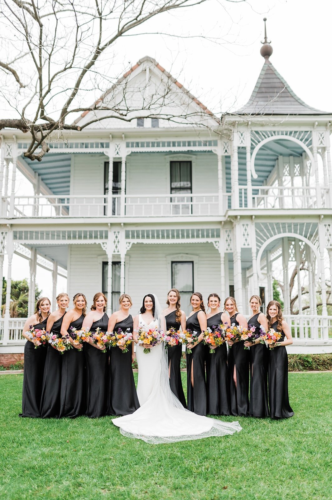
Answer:
[[[285, 338], [285, 333], [278, 329], [278, 321], [271, 328], [281, 332], [279, 342]], [[289, 418], [294, 415], [288, 397], [288, 355], [285, 345], [269, 348], [268, 363], [269, 405], [271, 418]]]

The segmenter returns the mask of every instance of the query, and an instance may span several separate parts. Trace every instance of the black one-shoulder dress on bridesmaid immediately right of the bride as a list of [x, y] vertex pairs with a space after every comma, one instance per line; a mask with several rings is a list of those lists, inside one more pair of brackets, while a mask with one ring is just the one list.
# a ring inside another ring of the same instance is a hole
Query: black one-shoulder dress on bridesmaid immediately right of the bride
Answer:
[[[175, 328], [179, 330], [181, 324], [176, 321], [176, 311], [172, 311], [165, 316], [166, 319], [166, 329]], [[180, 403], [186, 408], [186, 402], [182, 387], [181, 380], [181, 371], [180, 371], [180, 362], [182, 357], [182, 344], [174, 345], [174, 347], [168, 347], [167, 349], [168, 356], [168, 367], [170, 364], [170, 373], [169, 373], [169, 385], [170, 390], [177, 397]]]

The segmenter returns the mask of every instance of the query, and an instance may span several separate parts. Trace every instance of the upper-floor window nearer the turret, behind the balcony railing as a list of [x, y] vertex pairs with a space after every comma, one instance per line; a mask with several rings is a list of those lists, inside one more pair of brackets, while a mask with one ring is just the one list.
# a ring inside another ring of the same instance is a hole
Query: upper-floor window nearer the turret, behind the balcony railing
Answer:
[[191, 161], [171, 161], [170, 162], [170, 192], [176, 194], [170, 201], [172, 214], [191, 213]]

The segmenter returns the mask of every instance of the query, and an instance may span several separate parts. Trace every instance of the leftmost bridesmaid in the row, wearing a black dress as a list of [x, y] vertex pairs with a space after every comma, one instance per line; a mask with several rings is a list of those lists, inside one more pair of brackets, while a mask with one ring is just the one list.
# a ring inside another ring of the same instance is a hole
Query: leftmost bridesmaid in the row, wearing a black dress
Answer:
[[22, 413], [19, 416], [39, 417], [41, 385], [44, 373], [47, 345], [34, 348], [34, 343], [27, 336], [30, 326], [35, 329], [46, 329], [51, 302], [41, 297], [36, 303], [36, 310], [28, 317], [23, 326], [22, 336], [27, 339], [24, 345], [24, 374], [22, 391]]

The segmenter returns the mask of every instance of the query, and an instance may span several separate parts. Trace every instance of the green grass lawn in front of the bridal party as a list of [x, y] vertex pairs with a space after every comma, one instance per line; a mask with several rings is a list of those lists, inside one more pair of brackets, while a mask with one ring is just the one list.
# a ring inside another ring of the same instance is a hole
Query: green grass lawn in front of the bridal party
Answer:
[[289, 374], [293, 418], [240, 417], [232, 436], [158, 445], [110, 417], [19, 418], [22, 378], [0, 375], [1, 499], [332, 498], [332, 373]]

